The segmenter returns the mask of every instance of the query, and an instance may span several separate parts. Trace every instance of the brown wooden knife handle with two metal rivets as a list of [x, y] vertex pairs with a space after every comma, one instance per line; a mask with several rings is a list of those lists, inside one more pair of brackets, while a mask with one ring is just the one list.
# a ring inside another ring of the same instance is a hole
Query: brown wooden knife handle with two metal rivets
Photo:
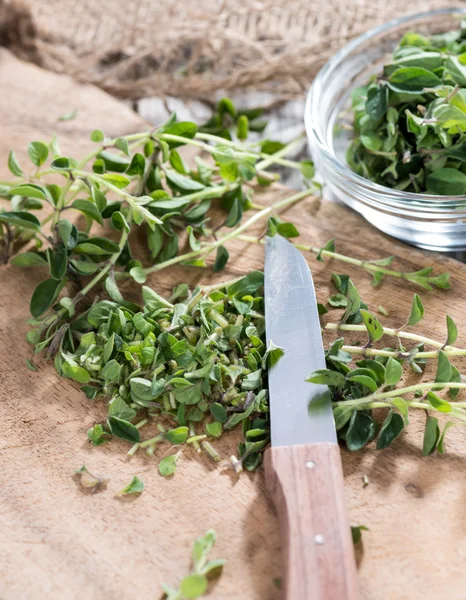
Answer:
[[356, 563], [338, 445], [269, 448], [265, 476], [282, 533], [283, 597], [356, 600]]

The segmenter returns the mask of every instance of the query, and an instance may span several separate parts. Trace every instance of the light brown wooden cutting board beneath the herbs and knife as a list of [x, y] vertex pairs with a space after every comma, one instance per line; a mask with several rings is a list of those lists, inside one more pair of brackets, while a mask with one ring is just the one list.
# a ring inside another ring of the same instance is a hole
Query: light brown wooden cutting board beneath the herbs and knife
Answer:
[[[102, 91], [24, 64], [6, 51], [0, 51], [0, 81], [0, 179], [8, 177], [8, 151], [14, 148], [21, 161], [31, 140], [57, 133], [63, 152], [79, 156], [91, 145], [94, 128], [117, 136], [144, 127]], [[58, 121], [73, 109], [75, 120]], [[261, 202], [284, 193], [269, 192]], [[337, 248], [354, 256], [393, 254], [405, 270], [434, 263], [448, 270], [452, 290], [422, 294], [421, 330], [442, 339], [447, 309], [460, 327], [458, 346], [464, 347], [465, 265], [397, 243], [333, 203], [308, 201], [287, 216], [299, 223], [303, 242], [321, 245], [336, 237]], [[238, 245], [231, 253], [222, 279], [262, 268], [261, 248]], [[361, 270], [315, 257], [309, 263], [321, 301], [331, 290], [331, 271], [345, 272], [370, 307], [383, 304], [390, 311], [387, 325], [400, 325], [409, 312], [416, 290], [406, 282], [392, 279], [373, 288]], [[161, 582], [176, 584], [187, 573], [195, 537], [213, 527], [214, 555], [228, 563], [210, 597], [278, 599], [273, 580], [281, 576], [280, 540], [262, 470], [237, 479], [186, 450], [174, 478], [163, 479], [156, 465], [164, 449], [155, 458], [128, 460], [123, 443], [90, 447], [85, 432], [102, 419], [103, 403], [87, 400], [44, 359], [37, 373], [26, 369], [25, 319], [40, 278], [34, 270], [0, 269], [0, 598], [158, 598]], [[176, 282], [200, 278], [211, 280], [209, 273], [177, 268], [150, 284], [164, 293]], [[466, 598], [464, 429], [449, 432], [446, 455], [422, 458], [423, 421], [413, 417], [408, 432], [383, 452], [342, 451], [351, 523], [370, 529], [357, 552], [363, 600]], [[227, 457], [235, 441], [225, 436], [218, 447]], [[77, 489], [71, 475], [83, 463], [110, 478], [107, 491], [87, 496]], [[142, 496], [131, 503], [114, 499], [136, 474], [145, 483]], [[370, 481], [365, 488], [364, 474]]]

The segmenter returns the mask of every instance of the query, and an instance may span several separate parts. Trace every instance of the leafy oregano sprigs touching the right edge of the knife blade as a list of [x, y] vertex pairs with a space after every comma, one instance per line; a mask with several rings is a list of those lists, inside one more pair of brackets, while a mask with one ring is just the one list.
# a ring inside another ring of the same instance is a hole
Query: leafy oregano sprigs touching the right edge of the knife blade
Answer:
[[[340, 276], [341, 282], [342, 276]], [[348, 281], [346, 306], [350, 296], [359, 297], [352, 291], [354, 285]], [[353, 300], [354, 304], [355, 300]], [[364, 305], [365, 306], [365, 305]], [[415, 294], [406, 326], [413, 327], [424, 316], [421, 298]], [[458, 328], [451, 316], [446, 317], [446, 341], [441, 342], [402, 329], [385, 328], [366, 308], [359, 298], [356, 312], [352, 311], [353, 323], [327, 323], [327, 331], [360, 332], [367, 336], [367, 343], [346, 345], [344, 338], [333, 341], [326, 351], [327, 368], [311, 373], [308, 381], [326, 384], [333, 395], [334, 415], [337, 430], [345, 439], [350, 450], [359, 450], [377, 437], [377, 448], [389, 446], [409, 423], [410, 410], [426, 411], [426, 429], [423, 452], [429, 454], [436, 448], [444, 452], [446, 431], [454, 424], [466, 424], [466, 402], [456, 400], [466, 383], [458, 368], [450, 363], [451, 356], [465, 356], [466, 350], [455, 348]], [[411, 348], [373, 348], [373, 344], [384, 336], [401, 341], [412, 341]], [[425, 351], [425, 345], [434, 350]], [[353, 367], [353, 361], [356, 360]], [[432, 381], [420, 380], [415, 384], [403, 385], [403, 366], [422, 376], [428, 360], [437, 363]], [[439, 395], [447, 390], [449, 399]], [[387, 409], [385, 419], [379, 427], [373, 410]], [[448, 414], [443, 432], [440, 432], [436, 414]]]

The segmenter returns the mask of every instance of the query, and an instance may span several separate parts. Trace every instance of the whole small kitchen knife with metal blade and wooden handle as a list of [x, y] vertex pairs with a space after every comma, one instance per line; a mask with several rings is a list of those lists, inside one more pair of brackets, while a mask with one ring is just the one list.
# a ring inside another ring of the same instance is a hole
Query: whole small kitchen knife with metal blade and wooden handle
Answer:
[[265, 250], [267, 342], [285, 351], [269, 372], [272, 446], [266, 484], [280, 521], [286, 600], [355, 600], [357, 574], [331, 396], [306, 377], [325, 368], [311, 272], [283, 237]]

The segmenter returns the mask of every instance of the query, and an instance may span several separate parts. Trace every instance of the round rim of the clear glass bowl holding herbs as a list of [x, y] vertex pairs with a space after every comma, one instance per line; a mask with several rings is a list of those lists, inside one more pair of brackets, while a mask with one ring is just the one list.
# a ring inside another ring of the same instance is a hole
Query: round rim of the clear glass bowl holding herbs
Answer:
[[330, 148], [329, 145], [324, 141], [325, 138], [322, 137], [321, 131], [319, 130], [319, 126], [316, 126], [316, 124], [319, 123], [318, 89], [319, 87], [325, 85], [326, 79], [332, 75], [333, 70], [337, 66], [341, 65], [345, 61], [347, 56], [351, 54], [354, 50], [356, 50], [358, 46], [366, 43], [367, 41], [370, 41], [371, 39], [381, 34], [383, 35], [385, 33], [388, 33], [391, 29], [397, 28], [400, 25], [409, 24], [410, 22], [415, 23], [419, 20], [435, 18], [442, 15], [466, 16], [466, 8], [440, 8], [436, 10], [407, 15], [398, 19], [392, 19], [391, 21], [387, 21], [387, 23], [383, 23], [382, 25], [378, 25], [377, 27], [369, 29], [362, 35], [359, 35], [358, 37], [351, 40], [348, 44], [343, 46], [341, 50], [338, 50], [338, 52], [336, 52], [336, 54], [329, 61], [327, 61], [317, 73], [309, 89], [304, 111], [304, 122], [308, 137], [312, 137], [313, 142], [317, 144], [319, 152], [323, 155], [324, 159], [340, 176], [346, 178], [347, 180], [349, 180], [349, 182], [361, 188], [364, 188], [366, 193], [371, 194], [372, 192], [373, 194], [382, 195], [385, 197], [385, 202], [389, 199], [395, 204], [398, 204], [399, 206], [409, 207], [414, 212], [416, 211], [416, 205], [419, 208], [423, 207], [423, 209], [427, 207], [429, 207], [430, 209], [434, 209], [437, 207], [444, 209], [452, 209], [458, 206], [458, 204], [461, 204], [462, 208], [464, 208], [466, 195], [438, 196], [433, 194], [416, 194], [414, 192], [404, 192], [402, 190], [396, 190], [383, 185], [379, 185], [378, 183], [375, 183], [370, 179], [366, 179], [365, 177], [362, 177], [361, 175], [358, 175], [357, 173], [352, 171], [349, 168], [349, 166], [336, 159], [333, 153], [333, 149]]

